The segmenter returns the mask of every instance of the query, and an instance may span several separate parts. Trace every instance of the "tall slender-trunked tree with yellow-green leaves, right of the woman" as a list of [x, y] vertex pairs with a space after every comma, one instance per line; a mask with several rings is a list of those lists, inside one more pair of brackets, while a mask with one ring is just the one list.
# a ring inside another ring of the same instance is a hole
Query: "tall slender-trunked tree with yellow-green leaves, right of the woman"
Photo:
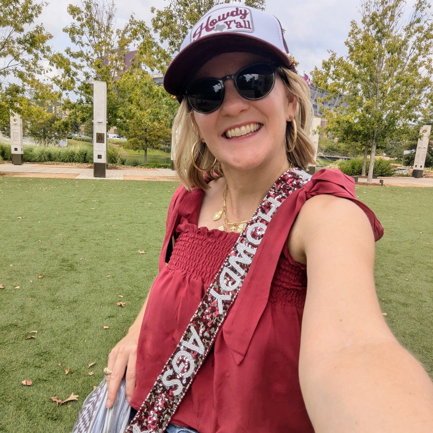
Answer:
[[315, 84], [344, 95], [349, 113], [368, 138], [368, 181], [378, 145], [385, 146], [405, 124], [415, 122], [432, 95], [430, 5], [417, 0], [407, 20], [404, 6], [404, 0], [362, 0], [361, 24], [352, 21], [345, 42], [348, 55], [330, 51], [322, 68], [313, 71]]

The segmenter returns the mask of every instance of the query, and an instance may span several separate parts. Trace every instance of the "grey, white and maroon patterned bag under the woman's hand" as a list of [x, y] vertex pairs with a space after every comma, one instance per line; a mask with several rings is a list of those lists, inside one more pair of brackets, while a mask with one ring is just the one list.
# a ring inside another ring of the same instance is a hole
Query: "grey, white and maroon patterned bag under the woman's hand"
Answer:
[[128, 427], [131, 411], [126, 400], [125, 378], [120, 382], [113, 406], [107, 409], [106, 401], [107, 383], [104, 377], [84, 400], [72, 433], [123, 433]]

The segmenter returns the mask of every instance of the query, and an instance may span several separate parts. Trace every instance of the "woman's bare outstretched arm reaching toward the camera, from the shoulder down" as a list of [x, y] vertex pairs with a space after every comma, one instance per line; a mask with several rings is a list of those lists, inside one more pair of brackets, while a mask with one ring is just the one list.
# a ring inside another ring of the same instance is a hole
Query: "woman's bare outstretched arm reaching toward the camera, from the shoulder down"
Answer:
[[316, 433], [431, 433], [433, 384], [381, 314], [365, 214], [322, 195], [295, 226], [308, 276], [299, 375]]

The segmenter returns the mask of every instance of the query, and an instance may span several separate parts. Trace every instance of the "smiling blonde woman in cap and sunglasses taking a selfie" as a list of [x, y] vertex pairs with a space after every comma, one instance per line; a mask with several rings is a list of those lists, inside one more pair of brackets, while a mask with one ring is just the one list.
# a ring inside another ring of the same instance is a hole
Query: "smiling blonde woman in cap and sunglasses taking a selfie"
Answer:
[[[383, 229], [355, 199], [351, 178], [299, 170], [314, 164], [310, 95], [278, 20], [215, 6], [188, 34], [164, 86], [181, 103], [174, 130], [183, 186], [168, 211], [160, 274], [110, 353], [107, 407], [126, 370], [129, 431], [430, 433], [432, 383], [394, 339], [375, 294]], [[284, 187], [277, 203], [275, 188]], [[239, 239], [255, 243], [259, 226], [266, 233], [252, 263], [247, 247], [238, 262], [224, 262]], [[240, 276], [227, 277], [228, 263]], [[221, 326], [209, 306], [197, 308], [208, 296], [221, 313], [235, 285]], [[188, 333], [194, 312], [208, 328]]]

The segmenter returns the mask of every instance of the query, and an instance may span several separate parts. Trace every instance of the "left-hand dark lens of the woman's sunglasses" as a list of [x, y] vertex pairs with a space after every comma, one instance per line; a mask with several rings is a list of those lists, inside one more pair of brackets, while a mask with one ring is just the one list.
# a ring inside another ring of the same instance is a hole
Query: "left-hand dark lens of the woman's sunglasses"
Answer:
[[188, 89], [188, 100], [199, 113], [210, 113], [221, 105], [223, 86], [214, 78], [195, 81]]

